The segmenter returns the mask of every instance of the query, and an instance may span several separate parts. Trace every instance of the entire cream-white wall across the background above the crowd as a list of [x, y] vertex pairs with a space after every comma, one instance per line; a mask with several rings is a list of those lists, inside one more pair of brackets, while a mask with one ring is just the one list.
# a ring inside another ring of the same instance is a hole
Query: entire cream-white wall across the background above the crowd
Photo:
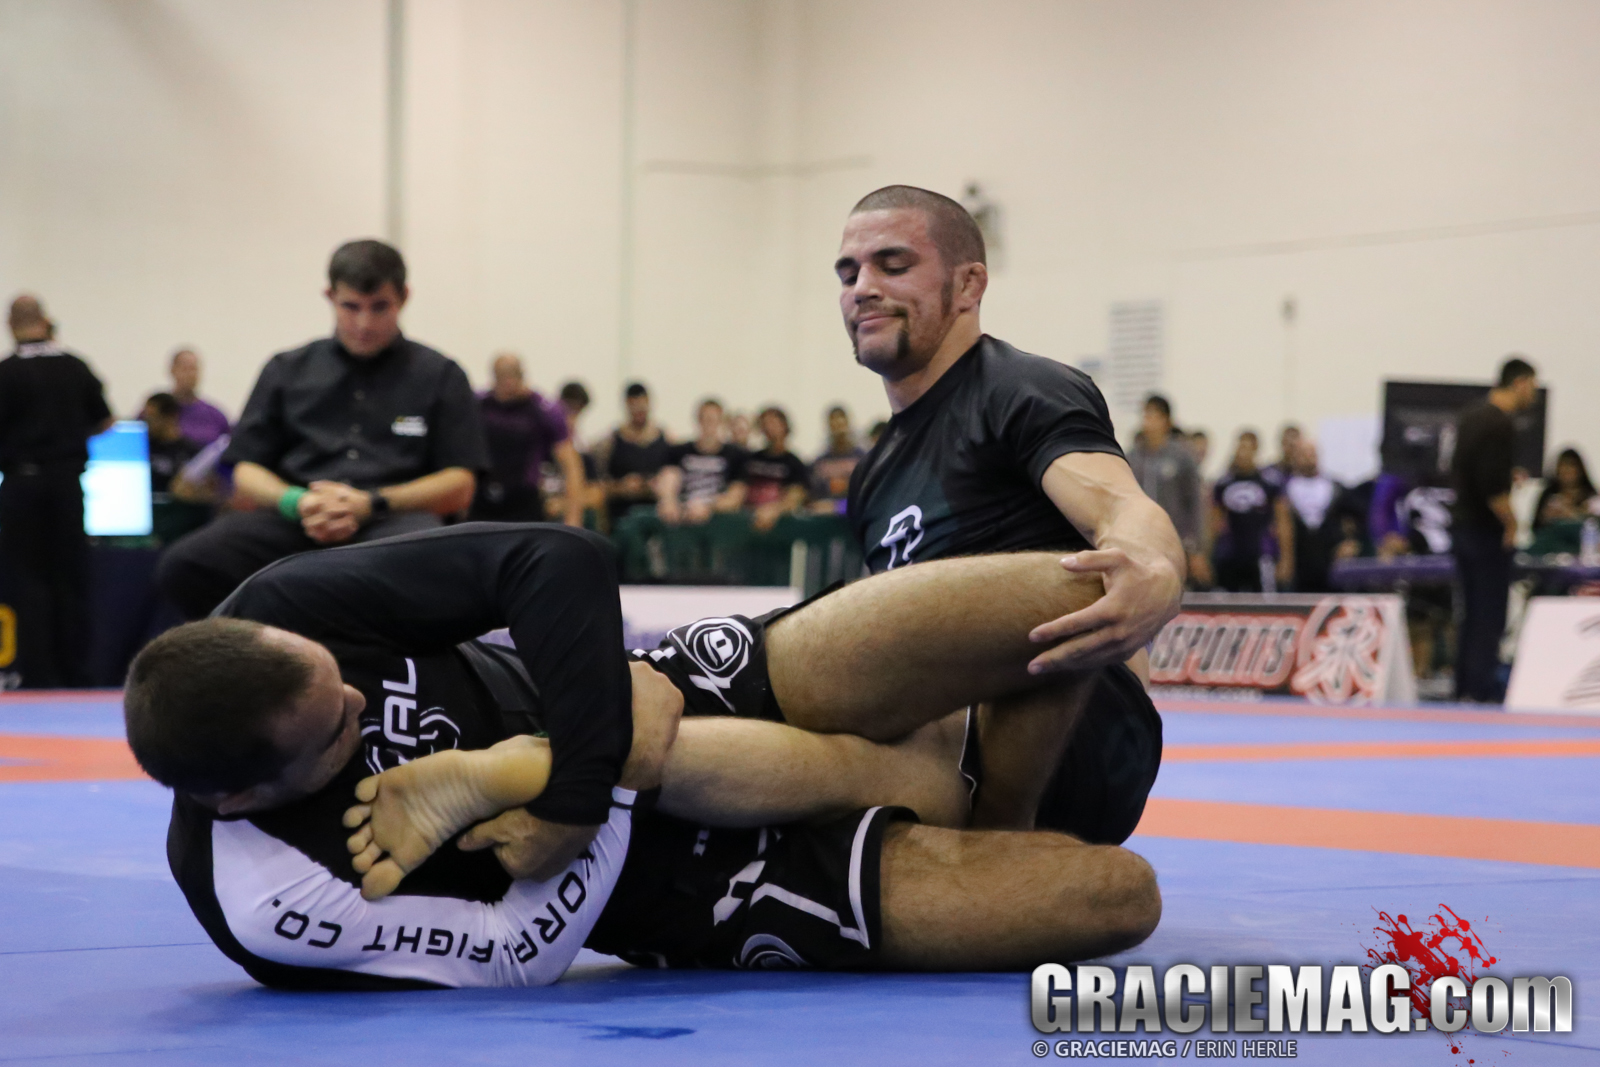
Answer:
[[[1552, 446], [1600, 454], [1589, 0], [406, 16], [406, 328], [478, 381], [502, 347], [587, 379], [590, 434], [629, 376], [678, 432], [706, 392], [784, 402], [805, 448], [835, 400], [882, 414], [838, 323], [843, 216], [976, 179], [1006, 219], [990, 331], [1072, 362], [1112, 301], [1160, 299], [1184, 424], [1374, 413], [1384, 376], [1523, 350]], [[181, 341], [237, 408], [326, 328], [328, 251], [382, 224], [382, 46], [381, 0], [0, 0], [0, 293], [42, 291], [122, 410]]]

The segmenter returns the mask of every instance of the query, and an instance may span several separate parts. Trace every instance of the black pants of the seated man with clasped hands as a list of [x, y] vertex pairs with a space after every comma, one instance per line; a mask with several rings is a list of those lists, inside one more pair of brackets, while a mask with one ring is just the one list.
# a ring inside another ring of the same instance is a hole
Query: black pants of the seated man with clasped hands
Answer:
[[[437, 515], [392, 512], [366, 523], [344, 544], [434, 530], [438, 525]], [[275, 510], [230, 512], [173, 542], [155, 569], [155, 584], [186, 619], [203, 619], [267, 563], [330, 545], [317, 544], [299, 523]]]

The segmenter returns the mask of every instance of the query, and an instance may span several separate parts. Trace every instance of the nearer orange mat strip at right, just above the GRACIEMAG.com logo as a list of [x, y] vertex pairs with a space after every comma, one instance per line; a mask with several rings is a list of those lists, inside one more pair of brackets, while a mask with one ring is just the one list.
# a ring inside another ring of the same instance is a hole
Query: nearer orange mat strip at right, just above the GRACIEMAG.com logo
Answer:
[[1152, 797], [1138, 833], [1600, 869], [1600, 825]]

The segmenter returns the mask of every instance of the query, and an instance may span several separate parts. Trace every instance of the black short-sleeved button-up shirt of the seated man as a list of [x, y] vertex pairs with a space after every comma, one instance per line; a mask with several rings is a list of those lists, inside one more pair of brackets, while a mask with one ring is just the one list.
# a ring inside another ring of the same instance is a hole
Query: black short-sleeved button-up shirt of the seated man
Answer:
[[445, 467], [485, 470], [488, 446], [454, 360], [405, 336], [366, 358], [323, 338], [267, 362], [224, 459], [291, 485], [376, 490]]

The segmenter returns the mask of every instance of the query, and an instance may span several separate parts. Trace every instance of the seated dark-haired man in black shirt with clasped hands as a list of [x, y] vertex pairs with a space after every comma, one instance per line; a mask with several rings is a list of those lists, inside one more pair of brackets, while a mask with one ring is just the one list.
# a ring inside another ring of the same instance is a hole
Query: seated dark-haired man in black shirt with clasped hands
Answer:
[[477, 400], [459, 365], [400, 333], [405, 278], [382, 242], [334, 251], [334, 336], [267, 362], [224, 454], [261, 510], [222, 515], [162, 560], [157, 581], [189, 617], [285, 555], [429, 530], [472, 502], [488, 467]]

